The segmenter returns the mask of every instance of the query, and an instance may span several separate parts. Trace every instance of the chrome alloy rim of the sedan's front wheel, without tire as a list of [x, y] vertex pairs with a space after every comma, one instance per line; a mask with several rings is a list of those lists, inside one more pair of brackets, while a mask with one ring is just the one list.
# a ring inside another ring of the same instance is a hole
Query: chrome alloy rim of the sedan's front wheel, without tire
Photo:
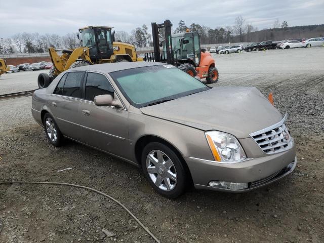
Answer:
[[171, 191], [177, 184], [176, 168], [167, 154], [152, 150], [146, 157], [146, 170], [152, 182], [164, 191]]

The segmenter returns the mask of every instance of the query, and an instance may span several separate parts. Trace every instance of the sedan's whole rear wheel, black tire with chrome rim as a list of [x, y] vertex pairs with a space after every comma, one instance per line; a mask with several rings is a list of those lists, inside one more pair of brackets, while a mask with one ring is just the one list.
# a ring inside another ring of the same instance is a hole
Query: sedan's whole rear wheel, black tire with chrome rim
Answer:
[[61, 146], [63, 144], [64, 137], [50, 113], [46, 113], [44, 115], [43, 126], [46, 137], [50, 143], [55, 147]]

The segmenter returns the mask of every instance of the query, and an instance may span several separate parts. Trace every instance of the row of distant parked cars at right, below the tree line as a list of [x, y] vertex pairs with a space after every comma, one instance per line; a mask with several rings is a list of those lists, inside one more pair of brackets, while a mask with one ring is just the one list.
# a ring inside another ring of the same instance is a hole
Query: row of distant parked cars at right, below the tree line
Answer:
[[241, 51], [259, 51], [267, 49], [289, 49], [289, 48], [298, 48], [298, 47], [319, 47], [324, 45], [323, 37], [309, 38], [302, 40], [301, 38], [290, 38], [285, 39], [285, 41], [274, 42], [274, 41], [265, 41], [259, 43], [252, 43], [247, 46], [242, 45], [232, 45], [232, 46], [219, 46], [210, 48], [210, 53], [217, 54], [228, 54]]

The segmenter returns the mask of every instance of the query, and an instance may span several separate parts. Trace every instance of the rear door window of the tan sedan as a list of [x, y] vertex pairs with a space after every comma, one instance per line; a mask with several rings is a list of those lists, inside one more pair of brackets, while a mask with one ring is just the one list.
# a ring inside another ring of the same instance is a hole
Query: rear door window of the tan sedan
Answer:
[[69, 72], [64, 83], [63, 95], [81, 98], [81, 84], [84, 72]]

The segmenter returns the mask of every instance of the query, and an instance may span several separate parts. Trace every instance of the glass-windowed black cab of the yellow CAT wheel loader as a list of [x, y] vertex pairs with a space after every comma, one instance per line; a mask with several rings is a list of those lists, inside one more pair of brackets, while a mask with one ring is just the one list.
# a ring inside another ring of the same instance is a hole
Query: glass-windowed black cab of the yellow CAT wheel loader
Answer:
[[[80, 44], [82, 47], [89, 48], [92, 61], [109, 59], [113, 54], [112, 27], [88, 26], [79, 29], [81, 33]], [[77, 34], [79, 38], [79, 34]]]

